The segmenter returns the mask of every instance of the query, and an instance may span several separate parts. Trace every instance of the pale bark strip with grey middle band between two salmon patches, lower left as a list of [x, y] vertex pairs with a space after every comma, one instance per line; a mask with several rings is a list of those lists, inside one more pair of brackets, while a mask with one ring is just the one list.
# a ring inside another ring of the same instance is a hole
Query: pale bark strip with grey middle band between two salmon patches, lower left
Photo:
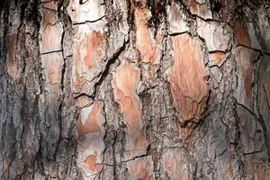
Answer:
[[103, 157], [103, 114], [102, 102], [95, 101], [85, 106], [76, 121], [78, 133], [77, 165], [86, 176], [95, 175], [102, 170]]

